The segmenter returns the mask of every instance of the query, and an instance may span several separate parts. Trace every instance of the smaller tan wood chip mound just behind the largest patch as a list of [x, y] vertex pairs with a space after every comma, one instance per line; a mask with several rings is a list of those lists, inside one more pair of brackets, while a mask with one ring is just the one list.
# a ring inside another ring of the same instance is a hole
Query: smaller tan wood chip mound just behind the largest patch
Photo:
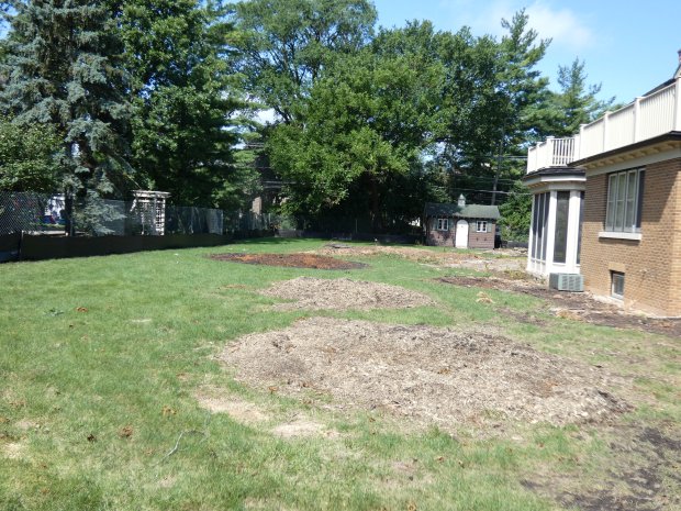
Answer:
[[263, 295], [295, 300], [276, 304], [278, 310], [405, 309], [433, 303], [425, 295], [398, 286], [348, 278], [299, 277], [275, 282]]

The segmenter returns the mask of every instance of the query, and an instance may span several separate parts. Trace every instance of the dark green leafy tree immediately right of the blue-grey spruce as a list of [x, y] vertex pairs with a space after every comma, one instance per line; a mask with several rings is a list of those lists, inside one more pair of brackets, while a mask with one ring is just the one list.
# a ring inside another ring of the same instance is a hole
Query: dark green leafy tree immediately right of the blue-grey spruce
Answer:
[[225, 11], [198, 0], [123, 1], [119, 26], [131, 77], [133, 162], [177, 204], [236, 209], [253, 170], [234, 165], [243, 126]]

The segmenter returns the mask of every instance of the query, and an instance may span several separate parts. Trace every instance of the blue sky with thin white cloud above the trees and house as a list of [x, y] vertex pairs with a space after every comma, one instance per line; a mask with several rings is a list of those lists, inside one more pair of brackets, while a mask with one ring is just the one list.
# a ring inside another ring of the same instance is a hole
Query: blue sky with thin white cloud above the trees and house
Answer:
[[552, 40], [538, 69], [556, 86], [559, 65], [585, 62], [601, 98], [628, 102], [671, 78], [681, 48], [681, 0], [373, 0], [382, 26], [431, 20], [436, 29], [501, 36], [501, 19], [525, 8], [540, 37]]

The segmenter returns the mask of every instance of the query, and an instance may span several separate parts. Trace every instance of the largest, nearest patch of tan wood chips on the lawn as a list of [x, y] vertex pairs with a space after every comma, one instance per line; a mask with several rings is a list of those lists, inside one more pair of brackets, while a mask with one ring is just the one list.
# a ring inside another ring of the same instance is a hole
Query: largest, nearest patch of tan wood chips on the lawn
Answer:
[[602, 369], [483, 333], [330, 318], [247, 335], [222, 355], [237, 380], [332, 407], [383, 409], [447, 429], [505, 420], [605, 421], [628, 406]]

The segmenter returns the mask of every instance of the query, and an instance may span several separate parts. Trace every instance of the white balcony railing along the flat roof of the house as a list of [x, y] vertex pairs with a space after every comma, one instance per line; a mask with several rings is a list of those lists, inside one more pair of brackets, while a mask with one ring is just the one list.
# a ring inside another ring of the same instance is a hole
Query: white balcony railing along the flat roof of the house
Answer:
[[574, 136], [548, 137], [531, 147], [527, 151], [527, 173], [562, 167], [672, 131], [681, 132], [681, 78], [615, 112], [607, 112], [590, 124], [583, 124]]

